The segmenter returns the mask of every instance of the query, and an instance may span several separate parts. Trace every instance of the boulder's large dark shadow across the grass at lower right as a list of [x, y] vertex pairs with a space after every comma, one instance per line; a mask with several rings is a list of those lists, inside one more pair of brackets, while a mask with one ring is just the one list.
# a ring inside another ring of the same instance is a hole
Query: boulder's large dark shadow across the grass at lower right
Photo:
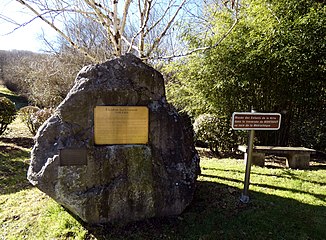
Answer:
[[326, 208], [201, 181], [183, 214], [127, 225], [84, 226], [103, 239], [326, 239]]

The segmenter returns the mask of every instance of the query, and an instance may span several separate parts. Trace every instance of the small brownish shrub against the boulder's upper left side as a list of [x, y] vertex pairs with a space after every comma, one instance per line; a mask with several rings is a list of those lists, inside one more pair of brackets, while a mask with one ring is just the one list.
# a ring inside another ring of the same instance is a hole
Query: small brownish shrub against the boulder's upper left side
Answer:
[[27, 106], [20, 109], [19, 114], [29, 131], [35, 135], [39, 127], [52, 115], [52, 108], [40, 109], [35, 106]]

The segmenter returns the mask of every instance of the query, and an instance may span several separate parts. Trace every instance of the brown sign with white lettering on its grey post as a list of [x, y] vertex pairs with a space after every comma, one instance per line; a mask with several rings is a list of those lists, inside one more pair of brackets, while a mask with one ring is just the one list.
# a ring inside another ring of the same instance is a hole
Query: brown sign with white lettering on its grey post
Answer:
[[232, 114], [232, 129], [234, 130], [249, 130], [246, 173], [244, 180], [244, 189], [241, 195], [241, 202], [249, 202], [249, 181], [252, 152], [254, 146], [255, 130], [278, 130], [281, 125], [281, 114], [279, 113], [257, 113], [254, 110], [251, 112], [234, 112]]

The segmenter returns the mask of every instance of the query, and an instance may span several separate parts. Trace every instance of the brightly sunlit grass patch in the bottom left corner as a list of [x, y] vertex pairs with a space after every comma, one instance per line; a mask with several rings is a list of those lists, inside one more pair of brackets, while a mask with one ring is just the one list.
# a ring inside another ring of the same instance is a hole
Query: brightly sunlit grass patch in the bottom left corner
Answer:
[[36, 188], [0, 196], [0, 239], [85, 239], [87, 230]]

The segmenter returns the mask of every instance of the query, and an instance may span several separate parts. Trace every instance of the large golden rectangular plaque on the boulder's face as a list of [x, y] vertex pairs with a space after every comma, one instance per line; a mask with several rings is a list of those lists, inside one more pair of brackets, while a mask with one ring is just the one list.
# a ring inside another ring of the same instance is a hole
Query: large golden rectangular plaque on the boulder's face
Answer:
[[95, 144], [147, 144], [148, 108], [143, 106], [96, 106]]

